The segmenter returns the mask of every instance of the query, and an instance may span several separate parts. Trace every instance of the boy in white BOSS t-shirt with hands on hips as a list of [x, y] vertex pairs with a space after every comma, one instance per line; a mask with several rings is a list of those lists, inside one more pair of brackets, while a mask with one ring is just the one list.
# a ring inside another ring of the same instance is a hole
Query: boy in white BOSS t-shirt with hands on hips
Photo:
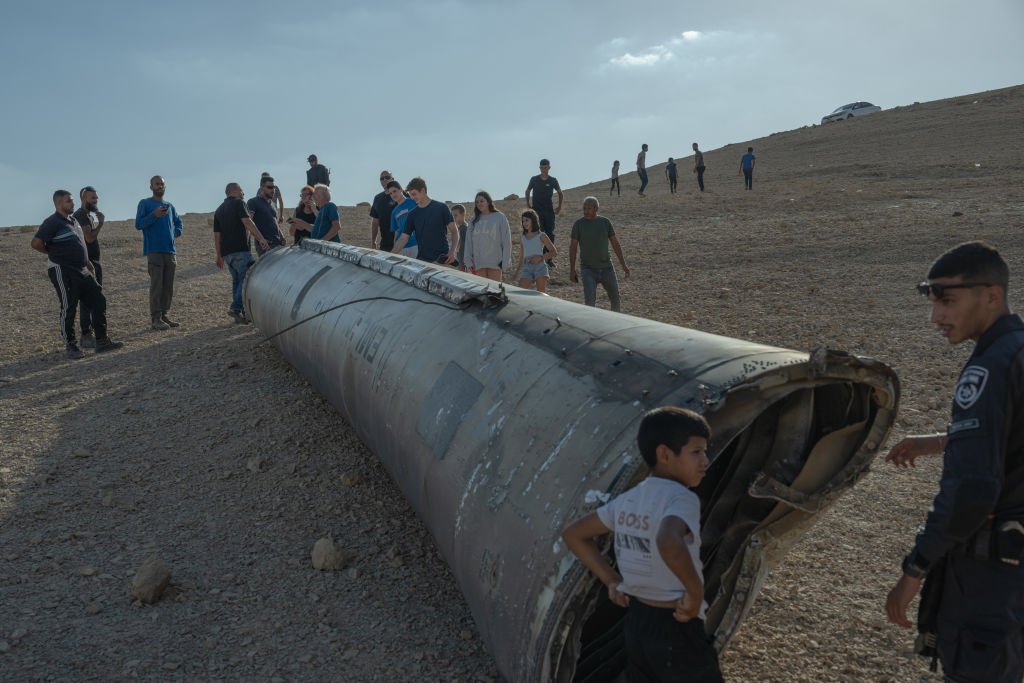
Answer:
[[[672, 405], [647, 413], [637, 444], [650, 475], [570, 524], [569, 550], [629, 607], [624, 623], [630, 681], [722, 681], [705, 633], [700, 500], [688, 487], [708, 468], [708, 422]], [[594, 538], [615, 538], [615, 571]], [[632, 597], [632, 599], [631, 599]]]

